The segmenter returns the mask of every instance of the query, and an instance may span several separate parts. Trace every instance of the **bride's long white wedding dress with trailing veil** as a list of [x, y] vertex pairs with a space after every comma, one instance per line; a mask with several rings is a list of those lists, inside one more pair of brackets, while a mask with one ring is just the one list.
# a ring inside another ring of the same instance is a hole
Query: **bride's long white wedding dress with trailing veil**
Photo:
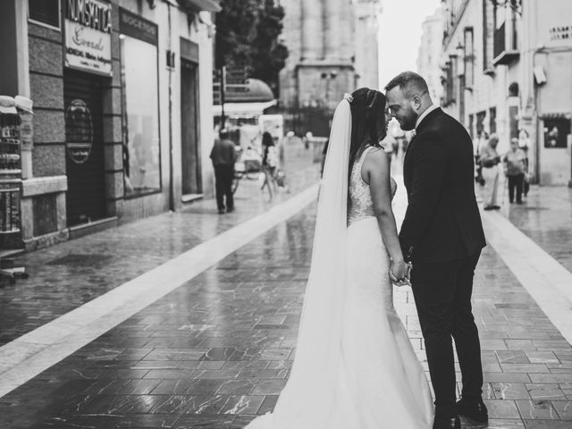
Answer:
[[[334, 131], [335, 125], [332, 136]], [[333, 142], [331, 137], [330, 144]], [[248, 429], [432, 427], [431, 391], [393, 307], [390, 259], [374, 217], [369, 186], [361, 177], [370, 149], [366, 148], [352, 168], [351, 204], [349, 213], [341, 215], [346, 221], [343, 225], [341, 219], [332, 220], [337, 213], [324, 210], [332, 209], [333, 201], [338, 209], [344, 202], [347, 206], [348, 167], [341, 194], [334, 187], [343, 186], [344, 171], [335, 171], [332, 159], [326, 159], [292, 372], [273, 413], [257, 417]], [[342, 149], [339, 155], [338, 167], [347, 160]], [[328, 161], [332, 179], [333, 174], [341, 175], [341, 183], [325, 177]], [[396, 188], [391, 180], [392, 194]], [[329, 203], [328, 198], [332, 198]]]

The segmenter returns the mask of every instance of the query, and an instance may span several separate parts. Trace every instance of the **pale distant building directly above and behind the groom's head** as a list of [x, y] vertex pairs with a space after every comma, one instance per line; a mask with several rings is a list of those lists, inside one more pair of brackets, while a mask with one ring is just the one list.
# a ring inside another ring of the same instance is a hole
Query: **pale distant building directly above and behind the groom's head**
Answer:
[[434, 103], [442, 99], [442, 41], [445, 15], [439, 8], [422, 24], [421, 43], [417, 54], [417, 72], [425, 78]]

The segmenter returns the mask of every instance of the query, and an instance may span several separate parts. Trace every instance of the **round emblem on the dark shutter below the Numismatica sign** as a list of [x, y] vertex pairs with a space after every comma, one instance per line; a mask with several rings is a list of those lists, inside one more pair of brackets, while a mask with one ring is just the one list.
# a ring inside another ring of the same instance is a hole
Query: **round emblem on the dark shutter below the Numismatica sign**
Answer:
[[85, 163], [93, 144], [93, 121], [88, 105], [80, 98], [72, 100], [65, 110], [65, 140], [71, 161]]

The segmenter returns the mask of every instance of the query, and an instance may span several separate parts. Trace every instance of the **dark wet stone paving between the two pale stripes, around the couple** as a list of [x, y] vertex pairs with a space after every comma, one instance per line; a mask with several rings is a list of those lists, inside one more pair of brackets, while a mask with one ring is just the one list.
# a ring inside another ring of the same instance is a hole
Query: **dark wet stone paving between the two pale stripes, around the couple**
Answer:
[[[0, 428], [238, 429], [272, 410], [289, 375], [314, 216], [309, 206], [5, 395]], [[572, 427], [572, 348], [492, 248], [474, 298], [488, 427]], [[407, 289], [396, 307], [423, 360]]]

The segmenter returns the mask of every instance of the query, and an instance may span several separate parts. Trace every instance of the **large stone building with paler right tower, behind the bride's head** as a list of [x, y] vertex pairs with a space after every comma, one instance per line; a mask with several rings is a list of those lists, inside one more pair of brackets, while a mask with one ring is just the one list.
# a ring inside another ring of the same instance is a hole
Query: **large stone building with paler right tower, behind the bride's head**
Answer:
[[282, 38], [290, 50], [280, 75], [281, 108], [301, 111], [306, 119], [319, 116], [322, 121], [312, 130], [325, 134], [345, 92], [366, 83], [377, 87], [377, 37], [362, 41], [377, 31], [378, 1], [282, 0], [281, 4], [286, 13]]

